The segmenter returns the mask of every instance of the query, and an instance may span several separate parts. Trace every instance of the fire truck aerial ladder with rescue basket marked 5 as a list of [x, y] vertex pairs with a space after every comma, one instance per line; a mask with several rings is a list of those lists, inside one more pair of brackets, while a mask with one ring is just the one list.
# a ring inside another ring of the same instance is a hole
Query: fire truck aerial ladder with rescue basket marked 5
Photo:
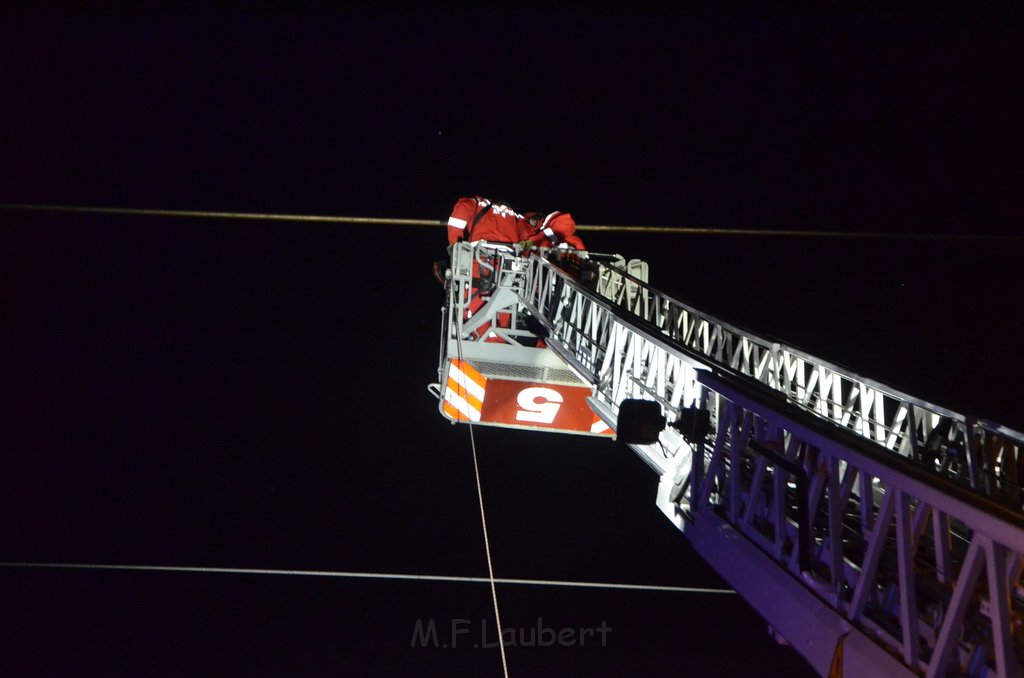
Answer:
[[454, 423], [627, 442], [656, 505], [819, 674], [1020, 676], [1024, 434], [652, 288], [642, 261], [458, 243]]

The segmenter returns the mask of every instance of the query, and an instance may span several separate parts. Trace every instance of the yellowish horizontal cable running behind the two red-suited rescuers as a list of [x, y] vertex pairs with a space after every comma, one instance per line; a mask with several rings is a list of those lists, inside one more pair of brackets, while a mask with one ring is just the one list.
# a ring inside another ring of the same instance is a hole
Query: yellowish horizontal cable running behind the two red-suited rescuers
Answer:
[[[372, 224], [380, 226], [422, 226], [441, 228], [445, 221], [436, 219], [399, 219], [392, 217], [328, 216], [317, 214], [276, 214], [260, 212], [216, 212], [203, 210], [151, 210], [127, 207], [85, 207], [77, 205], [0, 205], [0, 210], [26, 212], [75, 212], [79, 214], [110, 214], [120, 216], [157, 216], [188, 219], [233, 219], [239, 221], [285, 221], [311, 223]], [[912, 234], [862, 230], [798, 230], [773, 228], [703, 228], [650, 225], [589, 225], [579, 224], [578, 230], [671, 234], [676, 236], [757, 236], [769, 238], [825, 238], [853, 240], [937, 240], [937, 241], [1024, 241], [1024, 234]]]

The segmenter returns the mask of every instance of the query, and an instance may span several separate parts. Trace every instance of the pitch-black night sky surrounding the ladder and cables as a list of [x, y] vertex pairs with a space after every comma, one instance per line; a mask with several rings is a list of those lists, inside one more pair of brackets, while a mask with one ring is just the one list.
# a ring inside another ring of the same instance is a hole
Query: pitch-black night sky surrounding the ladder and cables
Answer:
[[[1016, 17], [0, 16], [0, 204], [1009, 235]], [[483, 577], [436, 380], [444, 235], [0, 211], [0, 561]], [[1024, 429], [1021, 241], [584, 234], [699, 308]], [[721, 588], [608, 441], [478, 430], [496, 575]], [[514, 675], [800, 675], [735, 596], [499, 588], [612, 628]], [[475, 584], [0, 568], [4, 675], [499, 675]]]

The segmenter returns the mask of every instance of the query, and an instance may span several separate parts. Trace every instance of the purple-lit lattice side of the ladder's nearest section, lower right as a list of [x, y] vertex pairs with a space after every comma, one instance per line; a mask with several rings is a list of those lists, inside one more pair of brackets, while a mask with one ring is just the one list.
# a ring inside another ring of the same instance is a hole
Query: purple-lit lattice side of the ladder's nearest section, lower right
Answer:
[[[663, 509], [698, 525], [714, 516], [742, 535], [843, 619], [836, 643], [860, 634], [928, 676], [1020, 675], [1024, 517], [770, 389], [705, 371], [697, 379], [717, 429]], [[713, 565], [735, 557], [724, 542], [694, 541]], [[741, 593], [742, 579], [733, 582]], [[755, 605], [811, 660], [822, 629], [801, 638], [805, 619], [785, 629], [804, 616], [773, 608], [777, 600]], [[812, 665], [828, 670], [822, 658]]]

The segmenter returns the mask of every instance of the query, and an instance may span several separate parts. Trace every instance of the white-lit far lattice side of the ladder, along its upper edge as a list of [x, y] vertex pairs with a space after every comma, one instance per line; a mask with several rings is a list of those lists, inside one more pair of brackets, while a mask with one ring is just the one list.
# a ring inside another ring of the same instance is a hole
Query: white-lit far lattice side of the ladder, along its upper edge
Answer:
[[[557, 278], [565, 272], [552, 270], [555, 266], [538, 257], [530, 261], [531, 303], [552, 317], [579, 319], [581, 313], [572, 306], [589, 302], [558, 285]], [[547, 287], [541, 286], [542, 280]], [[822, 419], [1024, 510], [1024, 434], [1019, 431], [966, 417], [724, 323], [650, 288], [620, 266], [600, 265], [594, 292], [693, 351], [705, 365], [752, 377]], [[586, 328], [557, 331], [574, 338], [599, 325], [591, 322]], [[595, 336], [593, 341], [600, 339]]]

